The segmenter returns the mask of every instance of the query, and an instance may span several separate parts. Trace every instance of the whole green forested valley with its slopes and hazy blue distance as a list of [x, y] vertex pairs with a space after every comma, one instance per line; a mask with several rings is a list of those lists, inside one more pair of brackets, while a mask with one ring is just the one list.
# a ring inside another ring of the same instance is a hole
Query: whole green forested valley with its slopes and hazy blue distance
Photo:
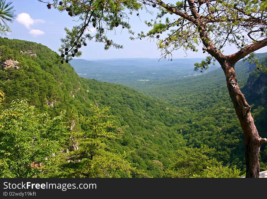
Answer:
[[[20, 51], [31, 51], [36, 56]], [[245, 173], [242, 129], [228, 95], [223, 71], [218, 66], [211, 66], [199, 74], [193, 68], [195, 61], [200, 59], [174, 59], [171, 63], [146, 58], [73, 59], [70, 64], [60, 64], [56, 52], [44, 45], [7, 38], [0, 38], [0, 54], [2, 63], [11, 59], [19, 66], [0, 70], [0, 90], [5, 93], [3, 110], [8, 109], [14, 99], [21, 98], [35, 106], [35, 114], [46, 112], [56, 117], [65, 110], [67, 136], [60, 136], [65, 139], [61, 146], [65, 151], [73, 144], [69, 137], [80, 138], [82, 132], [91, 132], [81, 119], [94, 117], [90, 104], [97, 104], [100, 109], [110, 107], [107, 113], [112, 116], [110, 120], [114, 126], [120, 128], [121, 138], [101, 140], [101, 143], [108, 143], [108, 147], [99, 148], [95, 158], [92, 155], [91, 159], [70, 161], [70, 164], [63, 161], [64, 158], [61, 160], [64, 164], [56, 162], [57, 167], [51, 170], [61, 168], [59, 173], [62, 176], [59, 177], [90, 175], [86, 168], [93, 168], [103, 154], [106, 162], [111, 160], [108, 157], [116, 157], [115, 162], [121, 162], [123, 157], [123, 161], [138, 172], [131, 168], [132, 173], [127, 175], [118, 164], [120, 167], [115, 169], [118, 173], [112, 169], [106, 173], [99, 170], [101, 176], [205, 177], [212, 173], [215, 177], [237, 177]], [[256, 56], [266, 67], [266, 54]], [[248, 61], [238, 62], [236, 72], [238, 83], [252, 106], [259, 134], [266, 137], [263, 123], [266, 103], [257, 100], [265, 99], [265, 84], [260, 85], [263, 87], [261, 93], [250, 95], [259, 87], [257, 82], [263, 82], [265, 74]], [[108, 122], [106, 116], [102, 119], [101, 125]], [[4, 125], [3, 121], [1, 124]], [[5, 136], [1, 132], [1, 136]], [[94, 141], [90, 139], [92, 145]], [[0, 155], [2, 161], [7, 161], [4, 155]], [[194, 164], [200, 158], [205, 160], [203, 167], [195, 168]], [[188, 165], [184, 160], [193, 164]], [[267, 169], [266, 163], [267, 149], [263, 145], [262, 170]], [[211, 166], [212, 171], [208, 170]], [[188, 173], [185, 168], [188, 168]], [[225, 171], [224, 176], [215, 172], [219, 168]], [[83, 174], [77, 173], [80, 170]], [[140, 174], [142, 172], [145, 174]], [[178, 173], [183, 176], [177, 176]], [[55, 177], [53, 173], [48, 176]]]

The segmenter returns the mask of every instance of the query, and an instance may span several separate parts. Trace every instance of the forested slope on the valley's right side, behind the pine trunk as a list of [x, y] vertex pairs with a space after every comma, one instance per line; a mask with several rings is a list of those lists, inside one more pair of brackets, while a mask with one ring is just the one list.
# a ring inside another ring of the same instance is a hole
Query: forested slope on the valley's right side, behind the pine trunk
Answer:
[[[262, 63], [263, 69], [266, 65], [264, 61], [266, 55], [267, 53], [255, 55]], [[73, 62], [76, 64], [78, 61]], [[90, 73], [92, 67], [87, 65], [86, 70], [86, 63], [87, 61], [83, 63], [84, 72]], [[187, 145], [200, 147], [204, 143], [210, 147], [215, 147], [218, 150], [215, 157], [220, 161], [223, 161], [224, 164], [238, 165], [239, 168], [244, 169], [242, 129], [228, 95], [223, 71], [221, 68], [216, 69], [218, 66], [212, 67], [214, 66], [211, 66], [210, 72], [199, 77], [184, 77], [185, 73], [181, 72], [180, 76], [173, 79], [172, 76], [167, 78], [168, 74], [161, 71], [163, 75], [159, 81], [134, 83], [132, 80], [142, 77], [142, 75], [136, 74], [135, 79], [129, 78], [130, 84], [124, 80], [117, 82], [186, 110], [185, 112], [190, 113], [191, 118], [188, 118], [185, 123], [180, 123], [181, 125], [176, 125], [176, 128], [187, 140]], [[176, 64], [176, 68], [179, 68], [179, 63]], [[255, 64], [250, 64], [249, 61], [239, 61], [235, 68], [238, 83], [241, 88], [243, 87], [242, 91], [252, 106], [252, 114], [255, 115], [255, 123], [259, 133], [262, 137], [266, 137], [267, 132], [263, 122], [267, 116], [265, 111], [266, 92], [263, 92], [266, 86], [266, 75], [263, 71], [256, 69]], [[184, 68], [184, 72], [187, 74], [190, 70], [195, 72], [192, 67], [187, 70]], [[101, 68], [98, 73], [102, 73]], [[250, 88], [250, 91], [247, 87]], [[259, 104], [259, 101], [264, 102], [264, 104]], [[261, 106], [259, 107], [259, 105]], [[262, 158], [265, 160], [266, 152], [263, 152], [264, 149], [265, 145], [262, 146], [261, 150]], [[263, 162], [262, 167], [265, 167]]]

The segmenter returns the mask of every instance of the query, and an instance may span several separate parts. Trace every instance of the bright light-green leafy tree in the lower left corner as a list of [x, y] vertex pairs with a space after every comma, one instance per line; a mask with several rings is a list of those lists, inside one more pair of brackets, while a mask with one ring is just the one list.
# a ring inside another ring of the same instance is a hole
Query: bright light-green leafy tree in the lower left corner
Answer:
[[[0, 102], [2, 94], [0, 90]], [[0, 111], [0, 177], [41, 177], [59, 154], [65, 112], [50, 118], [35, 115], [34, 109], [16, 99]]]

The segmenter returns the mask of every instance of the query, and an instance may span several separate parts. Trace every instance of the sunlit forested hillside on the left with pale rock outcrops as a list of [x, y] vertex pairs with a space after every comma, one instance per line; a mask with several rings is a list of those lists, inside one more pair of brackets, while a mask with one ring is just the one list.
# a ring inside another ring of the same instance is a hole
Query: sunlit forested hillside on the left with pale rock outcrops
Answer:
[[111, 144], [113, 148], [122, 153], [134, 150], [128, 157], [130, 162], [154, 177], [162, 176], [155, 161], [167, 166], [175, 150], [186, 145], [174, 129], [186, 120], [186, 113], [174, 106], [122, 85], [79, 78], [69, 64], [56, 63], [57, 54], [41, 44], [0, 38], [0, 51], [2, 63], [6, 59], [19, 62], [18, 69], [0, 71], [0, 89], [6, 94], [4, 108], [16, 98], [25, 98], [36, 113], [47, 111], [56, 116], [66, 110], [68, 126], [79, 131], [73, 115], [88, 115], [96, 100], [101, 108], [110, 107], [115, 124], [124, 131], [123, 138]]

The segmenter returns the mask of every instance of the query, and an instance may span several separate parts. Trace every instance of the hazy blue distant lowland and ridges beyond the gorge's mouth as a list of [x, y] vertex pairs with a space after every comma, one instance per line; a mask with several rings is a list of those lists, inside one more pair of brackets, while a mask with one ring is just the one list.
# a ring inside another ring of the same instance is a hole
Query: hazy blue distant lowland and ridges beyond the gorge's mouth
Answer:
[[[70, 64], [80, 77], [122, 84], [138, 89], [142, 86], [142, 81], [175, 80], [184, 76], [201, 75], [198, 71], [194, 71], [194, 63], [201, 60], [202, 58], [181, 58], [172, 61], [150, 58], [94, 61], [73, 59]], [[212, 66], [204, 73], [216, 68], [218, 68], [218, 65]]]

